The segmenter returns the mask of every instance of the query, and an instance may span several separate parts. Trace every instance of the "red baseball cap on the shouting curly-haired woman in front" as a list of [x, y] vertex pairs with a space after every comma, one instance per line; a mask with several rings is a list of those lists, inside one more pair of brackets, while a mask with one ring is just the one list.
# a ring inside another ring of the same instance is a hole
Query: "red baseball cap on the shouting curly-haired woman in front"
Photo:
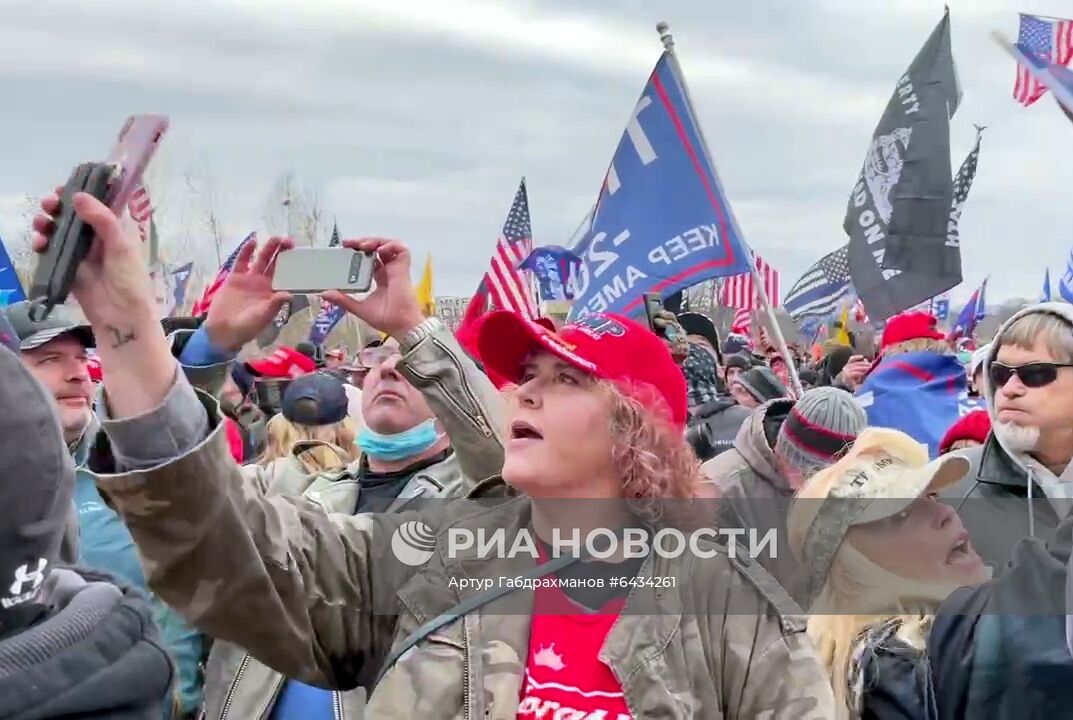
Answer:
[[611, 313], [594, 313], [553, 333], [544, 325], [502, 310], [489, 314], [477, 338], [481, 359], [496, 374], [518, 382], [533, 351], [549, 352], [573, 367], [617, 384], [649, 410], [670, 412], [677, 427], [689, 416], [686, 378], [671, 351], [643, 325]]

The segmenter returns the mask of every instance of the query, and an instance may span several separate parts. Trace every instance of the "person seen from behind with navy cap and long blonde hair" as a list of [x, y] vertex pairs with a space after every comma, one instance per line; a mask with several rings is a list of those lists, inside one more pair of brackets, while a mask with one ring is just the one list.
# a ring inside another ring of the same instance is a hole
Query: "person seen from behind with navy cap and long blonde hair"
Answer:
[[356, 429], [342, 382], [313, 372], [291, 381], [282, 411], [268, 421], [268, 444], [247, 474], [269, 495], [300, 496], [318, 475], [357, 459]]

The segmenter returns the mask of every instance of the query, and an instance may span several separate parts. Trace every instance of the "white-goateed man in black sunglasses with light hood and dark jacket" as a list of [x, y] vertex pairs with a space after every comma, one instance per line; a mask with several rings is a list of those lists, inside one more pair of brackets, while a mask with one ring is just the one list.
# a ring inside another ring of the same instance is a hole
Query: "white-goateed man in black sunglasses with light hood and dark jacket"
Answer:
[[1021, 310], [983, 361], [986, 442], [951, 491], [972, 544], [997, 571], [1024, 538], [1050, 542], [1073, 508], [1073, 306]]

